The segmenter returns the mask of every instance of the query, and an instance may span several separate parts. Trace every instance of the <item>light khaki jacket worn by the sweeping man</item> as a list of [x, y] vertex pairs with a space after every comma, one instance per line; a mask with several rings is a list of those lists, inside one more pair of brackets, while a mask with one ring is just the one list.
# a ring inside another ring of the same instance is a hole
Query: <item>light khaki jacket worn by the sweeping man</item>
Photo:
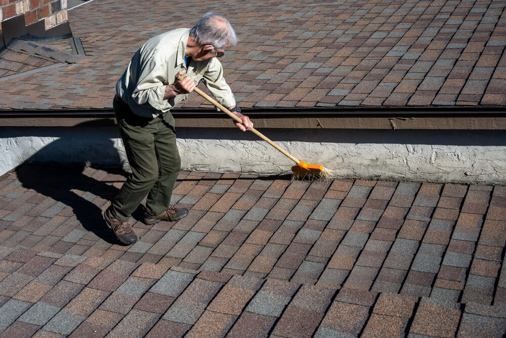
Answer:
[[[223, 78], [223, 67], [217, 58], [184, 62], [190, 29], [179, 28], [148, 40], [135, 53], [130, 64], [116, 83], [117, 95], [140, 116], [154, 118], [170, 111], [188, 94], [164, 100], [165, 86], [173, 84], [176, 74], [186, 69], [186, 75], [197, 84], [202, 78], [213, 96], [224, 106], [235, 105], [235, 98]], [[171, 119], [174, 125], [174, 119]]]

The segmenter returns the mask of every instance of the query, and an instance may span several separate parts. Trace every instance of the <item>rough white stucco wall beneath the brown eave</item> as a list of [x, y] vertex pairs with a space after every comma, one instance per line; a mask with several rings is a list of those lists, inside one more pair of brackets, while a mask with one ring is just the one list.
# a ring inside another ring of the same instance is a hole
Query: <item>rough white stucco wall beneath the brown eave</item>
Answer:
[[[290, 173], [293, 162], [251, 133], [178, 128], [182, 169]], [[503, 131], [265, 129], [293, 156], [339, 177], [506, 183]], [[32, 136], [26, 136], [32, 135]], [[0, 174], [24, 161], [126, 166], [115, 126], [0, 128]]]

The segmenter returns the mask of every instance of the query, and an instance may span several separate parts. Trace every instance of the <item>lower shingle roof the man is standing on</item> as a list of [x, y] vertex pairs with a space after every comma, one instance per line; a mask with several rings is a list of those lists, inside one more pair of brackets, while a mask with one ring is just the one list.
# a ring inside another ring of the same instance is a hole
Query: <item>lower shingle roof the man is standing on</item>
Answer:
[[182, 172], [188, 217], [146, 226], [139, 208], [123, 246], [101, 215], [123, 174], [0, 180], [3, 334], [506, 333], [504, 186]]

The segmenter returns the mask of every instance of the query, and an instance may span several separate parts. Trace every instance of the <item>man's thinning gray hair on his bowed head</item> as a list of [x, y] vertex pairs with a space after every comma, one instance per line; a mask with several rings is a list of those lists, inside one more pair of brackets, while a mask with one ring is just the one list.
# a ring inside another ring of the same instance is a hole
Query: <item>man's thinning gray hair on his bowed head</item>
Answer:
[[223, 16], [209, 12], [197, 22], [190, 35], [200, 45], [209, 44], [215, 48], [235, 46], [237, 36], [234, 28]]

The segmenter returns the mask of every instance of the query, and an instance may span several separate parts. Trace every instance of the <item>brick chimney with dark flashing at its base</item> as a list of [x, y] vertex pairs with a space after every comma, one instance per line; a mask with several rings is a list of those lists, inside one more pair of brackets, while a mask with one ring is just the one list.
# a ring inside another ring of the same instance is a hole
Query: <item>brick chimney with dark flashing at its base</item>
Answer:
[[12, 39], [72, 36], [67, 0], [0, 0], [0, 50]]

